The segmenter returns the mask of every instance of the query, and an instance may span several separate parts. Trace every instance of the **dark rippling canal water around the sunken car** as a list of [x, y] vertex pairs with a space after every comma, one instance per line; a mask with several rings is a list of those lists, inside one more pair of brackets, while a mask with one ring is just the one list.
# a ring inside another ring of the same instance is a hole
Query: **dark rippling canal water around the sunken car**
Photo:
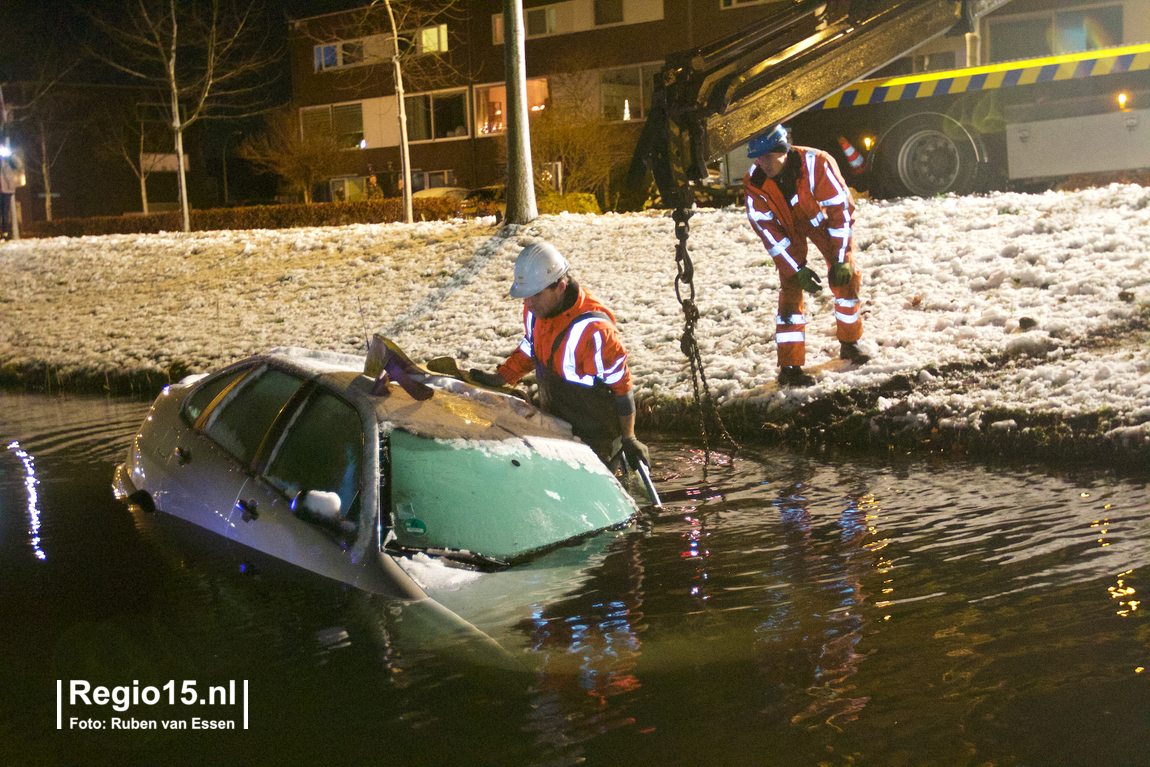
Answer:
[[[146, 407], [0, 393], [0, 765], [1150, 765], [1144, 480], [744, 450], [683, 500], [699, 452], [653, 444], [662, 513], [453, 606], [497, 652], [133, 516]], [[240, 729], [70, 722], [193, 715]]]

